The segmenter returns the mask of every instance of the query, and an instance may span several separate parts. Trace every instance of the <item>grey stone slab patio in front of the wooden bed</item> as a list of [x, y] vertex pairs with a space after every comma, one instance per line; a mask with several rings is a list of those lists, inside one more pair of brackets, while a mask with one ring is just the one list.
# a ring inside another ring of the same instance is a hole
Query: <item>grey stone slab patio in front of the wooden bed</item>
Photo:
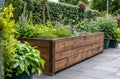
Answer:
[[120, 44], [103, 53], [56, 73], [54, 76], [37, 76], [34, 79], [120, 79]]

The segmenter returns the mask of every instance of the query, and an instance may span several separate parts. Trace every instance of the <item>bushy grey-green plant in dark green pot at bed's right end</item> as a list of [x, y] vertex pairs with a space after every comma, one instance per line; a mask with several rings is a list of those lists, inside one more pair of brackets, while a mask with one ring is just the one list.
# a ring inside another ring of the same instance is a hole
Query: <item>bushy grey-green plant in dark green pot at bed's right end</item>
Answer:
[[104, 48], [107, 49], [110, 39], [112, 39], [111, 33], [114, 33], [117, 27], [117, 21], [110, 15], [106, 15], [96, 20], [96, 26], [100, 32], [104, 32]]

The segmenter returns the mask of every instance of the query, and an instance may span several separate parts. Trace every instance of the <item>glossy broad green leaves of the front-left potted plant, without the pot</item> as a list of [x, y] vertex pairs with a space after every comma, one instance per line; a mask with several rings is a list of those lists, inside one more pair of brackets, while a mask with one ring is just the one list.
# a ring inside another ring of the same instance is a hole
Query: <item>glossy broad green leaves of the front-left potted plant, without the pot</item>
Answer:
[[28, 75], [30, 73], [35, 73], [36, 71], [42, 74], [41, 68], [44, 68], [45, 61], [40, 58], [39, 50], [30, 46], [29, 43], [25, 42], [20, 43], [19, 41], [14, 43], [15, 48], [15, 59], [11, 60], [10, 63], [13, 63], [13, 68], [15, 69], [16, 75], [19, 75], [23, 72], [26, 72]]

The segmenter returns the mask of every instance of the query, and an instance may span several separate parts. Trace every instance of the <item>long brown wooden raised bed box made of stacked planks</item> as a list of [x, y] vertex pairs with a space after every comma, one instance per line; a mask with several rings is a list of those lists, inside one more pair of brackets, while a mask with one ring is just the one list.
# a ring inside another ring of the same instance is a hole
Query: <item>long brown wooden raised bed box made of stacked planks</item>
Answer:
[[38, 46], [46, 61], [44, 73], [54, 75], [68, 66], [103, 52], [103, 33], [57, 39], [25, 38], [32, 46]]

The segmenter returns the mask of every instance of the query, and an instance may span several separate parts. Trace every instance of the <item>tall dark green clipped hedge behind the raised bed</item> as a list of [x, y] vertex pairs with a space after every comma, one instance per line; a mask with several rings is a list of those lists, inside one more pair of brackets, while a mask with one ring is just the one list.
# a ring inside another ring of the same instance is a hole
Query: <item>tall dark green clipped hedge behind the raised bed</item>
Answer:
[[[16, 20], [18, 20], [18, 17], [23, 12], [24, 5], [20, 4], [20, 1], [21, 0], [11, 0], [15, 8], [14, 15]], [[6, 0], [7, 5], [11, 2], [10, 0]], [[84, 12], [74, 5], [55, 2], [48, 2], [47, 5], [44, 5], [42, 2], [30, 2], [30, 0], [22, 0], [22, 3], [23, 2], [27, 2], [26, 10], [32, 11], [34, 23], [44, 23], [44, 21], [47, 20], [52, 22], [77, 23], [84, 18]], [[29, 12], [27, 13], [29, 14]]]

